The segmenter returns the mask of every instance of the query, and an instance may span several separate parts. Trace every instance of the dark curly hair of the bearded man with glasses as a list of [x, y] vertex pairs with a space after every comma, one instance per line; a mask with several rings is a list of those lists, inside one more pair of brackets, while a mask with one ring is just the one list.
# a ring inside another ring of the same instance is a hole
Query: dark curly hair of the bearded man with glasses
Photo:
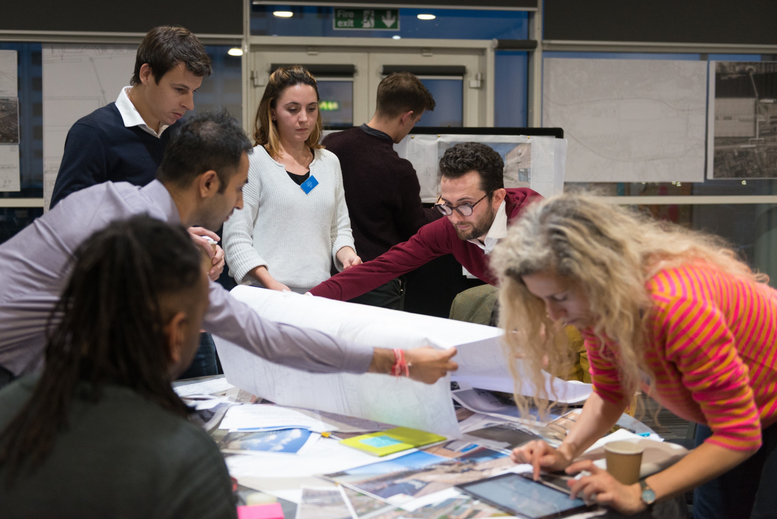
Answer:
[[448, 179], [458, 179], [473, 169], [479, 173], [480, 189], [486, 193], [504, 187], [504, 161], [490, 146], [459, 142], [445, 150], [440, 159], [440, 171]]

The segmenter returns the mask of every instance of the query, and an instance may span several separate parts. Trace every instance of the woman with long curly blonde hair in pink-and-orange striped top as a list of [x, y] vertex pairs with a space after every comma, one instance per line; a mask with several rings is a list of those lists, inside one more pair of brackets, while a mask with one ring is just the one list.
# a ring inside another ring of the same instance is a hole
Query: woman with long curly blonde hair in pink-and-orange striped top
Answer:
[[[500, 326], [542, 388], [543, 357], [563, 365], [562, 324], [580, 329], [594, 394], [559, 448], [542, 441], [519, 463], [586, 470], [573, 493], [625, 514], [695, 488], [694, 517], [777, 514], [777, 291], [720, 239], [643, 218], [595, 197], [538, 202], [493, 251]], [[520, 384], [520, 374], [516, 373]], [[642, 387], [701, 424], [697, 447], [643, 482], [623, 485], [590, 461]], [[525, 409], [549, 395], [517, 397]], [[529, 402], [527, 402], [527, 400]]]

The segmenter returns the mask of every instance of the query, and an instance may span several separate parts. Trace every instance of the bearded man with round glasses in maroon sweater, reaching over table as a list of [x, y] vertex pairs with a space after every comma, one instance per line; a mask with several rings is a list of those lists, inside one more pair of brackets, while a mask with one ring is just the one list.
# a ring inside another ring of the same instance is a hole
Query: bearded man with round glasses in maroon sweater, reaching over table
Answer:
[[508, 222], [539, 197], [524, 187], [505, 189], [503, 168], [502, 158], [489, 146], [462, 142], [448, 148], [440, 159], [441, 196], [435, 206], [448, 218], [424, 225], [408, 241], [310, 292], [347, 301], [444, 254], [453, 254], [470, 273], [494, 284], [488, 255], [507, 234]]

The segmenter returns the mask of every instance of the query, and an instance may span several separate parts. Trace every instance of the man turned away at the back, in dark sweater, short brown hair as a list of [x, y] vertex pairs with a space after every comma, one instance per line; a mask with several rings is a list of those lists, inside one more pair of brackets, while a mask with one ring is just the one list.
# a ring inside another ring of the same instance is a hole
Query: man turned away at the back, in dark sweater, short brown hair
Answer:
[[[340, 159], [350, 227], [359, 256], [369, 261], [441, 218], [421, 205], [413, 165], [393, 145], [413, 129], [434, 99], [415, 75], [397, 72], [378, 85], [378, 108], [368, 124], [328, 135], [323, 145]], [[389, 277], [354, 303], [401, 310], [403, 279]]]

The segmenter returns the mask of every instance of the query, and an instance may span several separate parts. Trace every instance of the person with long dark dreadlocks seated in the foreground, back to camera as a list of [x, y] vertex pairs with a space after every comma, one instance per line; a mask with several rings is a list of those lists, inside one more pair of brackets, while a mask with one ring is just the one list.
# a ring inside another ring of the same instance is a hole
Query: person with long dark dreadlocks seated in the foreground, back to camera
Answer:
[[218, 448], [170, 386], [208, 307], [189, 234], [136, 216], [73, 263], [44, 370], [0, 391], [0, 516], [235, 517]]

